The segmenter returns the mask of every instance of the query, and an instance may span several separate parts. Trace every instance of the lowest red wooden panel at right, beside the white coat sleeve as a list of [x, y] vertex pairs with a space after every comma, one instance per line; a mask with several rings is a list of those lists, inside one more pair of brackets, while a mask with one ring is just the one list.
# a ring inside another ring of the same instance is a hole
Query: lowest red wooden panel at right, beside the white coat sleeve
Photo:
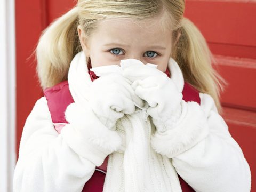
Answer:
[[243, 150], [244, 156], [249, 163], [252, 174], [251, 192], [255, 192], [256, 112], [224, 107], [222, 116], [228, 124], [229, 132]]

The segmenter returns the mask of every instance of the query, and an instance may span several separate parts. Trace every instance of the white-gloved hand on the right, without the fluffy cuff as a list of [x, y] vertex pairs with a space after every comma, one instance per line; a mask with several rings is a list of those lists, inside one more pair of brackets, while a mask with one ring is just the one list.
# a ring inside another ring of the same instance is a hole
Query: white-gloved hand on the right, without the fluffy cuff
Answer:
[[158, 131], [173, 127], [181, 113], [182, 93], [171, 78], [162, 71], [141, 62], [126, 66], [122, 74], [132, 81], [136, 95], [149, 104], [147, 113], [153, 118]]

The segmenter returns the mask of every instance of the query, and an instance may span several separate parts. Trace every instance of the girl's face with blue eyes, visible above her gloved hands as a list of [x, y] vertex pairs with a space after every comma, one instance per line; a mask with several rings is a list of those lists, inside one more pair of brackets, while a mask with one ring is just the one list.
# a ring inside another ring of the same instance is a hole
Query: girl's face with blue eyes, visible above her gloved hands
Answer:
[[98, 23], [89, 39], [78, 26], [83, 51], [92, 67], [119, 65], [123, 59], [153, 63], [165, 71], [171, 56], [172, 34], [163, 30], [159, 19], [134, 22], [132, 19], [106, 19]]

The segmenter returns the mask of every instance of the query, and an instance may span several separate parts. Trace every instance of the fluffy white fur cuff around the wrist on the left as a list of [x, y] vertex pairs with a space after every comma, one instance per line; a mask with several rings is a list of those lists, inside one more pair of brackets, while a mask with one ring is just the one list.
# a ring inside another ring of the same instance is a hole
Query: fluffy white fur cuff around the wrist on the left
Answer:
[[61, 130], [62, 137], [77, 154], [90, 159], [97, 166], [121, 145], [118, 132], [104, 126], [90, 107], [82, 108], [71, 103], [65, 116], [70, 124]]

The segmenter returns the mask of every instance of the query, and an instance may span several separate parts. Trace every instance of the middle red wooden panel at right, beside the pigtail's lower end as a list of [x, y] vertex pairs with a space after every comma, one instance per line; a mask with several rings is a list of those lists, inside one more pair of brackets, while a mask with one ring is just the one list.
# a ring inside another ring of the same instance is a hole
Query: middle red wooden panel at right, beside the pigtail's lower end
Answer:
[[222, 105], [256, 111], [256, 60], [215, 55], [218, 70], [229, 83]]

